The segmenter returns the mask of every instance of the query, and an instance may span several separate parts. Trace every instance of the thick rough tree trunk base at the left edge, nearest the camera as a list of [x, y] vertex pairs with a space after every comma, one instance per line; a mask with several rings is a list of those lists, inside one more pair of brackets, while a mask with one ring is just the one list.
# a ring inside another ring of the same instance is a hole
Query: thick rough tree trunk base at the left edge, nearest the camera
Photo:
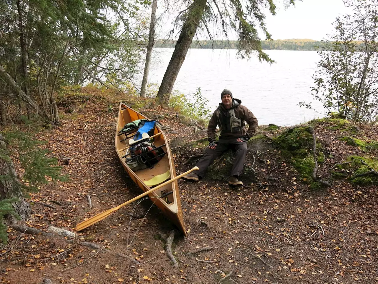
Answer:
[[18, 202], [12, 203], [15, 212], [22, 220], [26, 220], [30, 214], [29, 203], [23, 198], [20, 183], [14, 170], [12, 159], [7, 156], [7, 146], [0, 134], [0, 148], [2, 156], [0, 156], [0, 175], [5, 177], [0, 179], [0, 200], [5, 198], [17, 198]]

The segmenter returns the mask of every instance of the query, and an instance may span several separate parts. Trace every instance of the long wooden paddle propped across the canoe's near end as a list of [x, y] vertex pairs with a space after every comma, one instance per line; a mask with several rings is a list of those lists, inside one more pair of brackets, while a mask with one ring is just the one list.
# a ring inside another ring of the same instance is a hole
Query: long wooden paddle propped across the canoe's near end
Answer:
[[134, 198], [130, 199], [129, 201], [126, 201], [125, 203], [122, 203], [121, 205], [118, 205], [117, 207], [114, 207], [112, 209], [108, 209], [107, 211], [101, 212], [101, 213], [99, 213], [99, 214], [97, 214], [97, 215], [95, 215], [93, 217], [88, 218], [87, 220], [85, 220], [85, 221], [77, 224], [75, 231], [79, 232], [82, 229], [85, 229], [85, 228], [89, 227], [90, 225], [93, 225], [93, 224], [101, 221], [102, 219], [105, 219], [110, 214], [112, 214], [113, 212], [117, 211], [118, 209], [126, 206], [127, 204], [130, 204], [130, 203], [134, 202], [135, 200], [138, 200], [139, 198], [142, 198], [142, 197], [148, 195], [149, 193], [151, 193], [151, 192], [153, 192], [153, 191], [155, 191], [157, 189], [160, 189], [161, 187], [166, 186], [169, 183], [172, 183], [172, 181], [175, 181], [176, 179], [182, 178], [184, 175], [187, 175], [188, 173], [191, 173], [194, 170], [198, 170], [198, 167], [194, 167], [193, 169], [188, 170], [187, 172], [184, 172], [181, 175], [178, 175], [175, 178], [172, 178], [172, 179], [166, 181], [165, 183], [162, 183], [162, 184], [154, 187], [153, 189], [150, 189], [150, 190], [148, 190], [148, 191], [146, 191], [146, 192], [138, 195], [137, 197], [134, 197]]

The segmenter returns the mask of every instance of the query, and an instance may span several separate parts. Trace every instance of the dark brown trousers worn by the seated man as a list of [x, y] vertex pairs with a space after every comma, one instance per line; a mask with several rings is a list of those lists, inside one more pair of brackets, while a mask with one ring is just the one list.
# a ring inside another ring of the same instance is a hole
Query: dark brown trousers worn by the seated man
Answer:
[[203, 157], [198, 161], [197, 167], [199, 170], [194, 171], [201, 178], [205, 175], [206, 170], [209, 165], [214, 162], [216, 158], [221, 156], [227, 150], [232, 150], [235, 152], [235, 160], [232, 165], [231, 175], [230, 176], [240, 176], [243, 171], [245, 157], [247, 155], [247, 143], [246, 142], [237, 142], [237, 137], [231, 138], [219, 138], [217, 142], [217, 147], [215, 150], [211, 150], [209, 147], [204, 151]]

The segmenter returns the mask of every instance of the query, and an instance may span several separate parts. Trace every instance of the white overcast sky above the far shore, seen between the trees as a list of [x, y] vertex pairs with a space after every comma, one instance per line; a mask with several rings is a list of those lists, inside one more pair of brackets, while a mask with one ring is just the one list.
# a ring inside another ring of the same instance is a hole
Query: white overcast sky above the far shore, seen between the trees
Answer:
[[[163, 1], [160, 0], [160, 3]], [[163, 12], [163, 7], [158, 2], [159, 12]], [[303, 0], [303, 2], [296, 2], [295, 7], [291, 6], [288, 9], [284, 9], [280, 3], [277, 3], [276, 16], [267, 14], [265, 22], [273, 39], [321, 40], [327, 39], [327, 33], [333, 30], [332, 23], [336, 17], [346, 12], [347, 9], [342, 0]], [[158, 38], [166, 38], [167, 32], [172, 28], [172, 19], [174, 19], [173, 14], [164, 18], [160, 24]], [[263, 34], [261, 37], [265, 39]], [[218, 39], [220, 39], [219, 36]]]

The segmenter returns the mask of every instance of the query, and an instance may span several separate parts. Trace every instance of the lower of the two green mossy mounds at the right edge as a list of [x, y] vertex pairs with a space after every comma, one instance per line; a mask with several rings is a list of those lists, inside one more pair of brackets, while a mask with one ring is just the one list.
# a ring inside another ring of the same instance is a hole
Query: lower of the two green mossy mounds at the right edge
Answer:
[[378, 185], [378, 175], [358, 176], [359, 174], [370, 172], [370, 169], [378, 170], [378, 159], [375, 157], [350, 156], [335, 168], [341, 171], [334, 171], [332, 173], [334, 178], [347, 178], [353, 184]]

